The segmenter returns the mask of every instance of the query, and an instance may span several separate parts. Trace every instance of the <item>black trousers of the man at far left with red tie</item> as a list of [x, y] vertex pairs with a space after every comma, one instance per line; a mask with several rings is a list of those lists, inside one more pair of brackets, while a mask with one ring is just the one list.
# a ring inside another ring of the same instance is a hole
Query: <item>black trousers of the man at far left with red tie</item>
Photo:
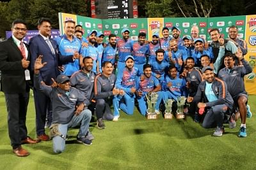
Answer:
[[21, 141], [28, 137], [26, 115], [29, 102], [29, 92], [24, 94], [6, 94], [6, 108], [8, 111], [8, 132], [13, 148], [18, 148]]

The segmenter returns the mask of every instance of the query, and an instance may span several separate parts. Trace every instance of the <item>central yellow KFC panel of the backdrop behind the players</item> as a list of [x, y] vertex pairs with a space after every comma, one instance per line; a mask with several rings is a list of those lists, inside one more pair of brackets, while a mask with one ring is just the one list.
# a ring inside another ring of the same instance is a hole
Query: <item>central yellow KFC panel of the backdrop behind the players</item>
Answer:
[[148, 18], [148, 40], [152, 41], [153, 34], [159, 34], [163, 37], [162, 29], [164, 25], [164, 18]]

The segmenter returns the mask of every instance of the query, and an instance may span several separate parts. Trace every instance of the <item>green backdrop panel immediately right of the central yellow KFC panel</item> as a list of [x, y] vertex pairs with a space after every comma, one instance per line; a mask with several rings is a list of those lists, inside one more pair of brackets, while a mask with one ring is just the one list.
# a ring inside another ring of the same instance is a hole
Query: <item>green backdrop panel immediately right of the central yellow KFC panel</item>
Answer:
[[[197, 25], [199, 36], [206, 39], [207, 36], [207, 18], [164, 18], [164, 27], [168, 27], [171, 31], [173, 26], [179, 27], [180, 37], [191, 35], [191, 27]], [[172, 33], [170, 33], [172, 34]]]

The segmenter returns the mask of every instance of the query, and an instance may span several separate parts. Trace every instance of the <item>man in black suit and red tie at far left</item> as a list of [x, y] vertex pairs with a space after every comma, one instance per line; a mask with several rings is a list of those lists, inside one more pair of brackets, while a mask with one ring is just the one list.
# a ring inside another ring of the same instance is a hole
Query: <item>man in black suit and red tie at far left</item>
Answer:
[[12, 37], [0, 43], [1, 89], [8, 111], [8, 132], [13, 153], [19, 157], [29, 155], [22, 144], [38, 142], [29, 138], [26, 127], [30, 80], [29, 49], [22, 42], [26, 32], [26, 23], [15, 20], [12, 23]]

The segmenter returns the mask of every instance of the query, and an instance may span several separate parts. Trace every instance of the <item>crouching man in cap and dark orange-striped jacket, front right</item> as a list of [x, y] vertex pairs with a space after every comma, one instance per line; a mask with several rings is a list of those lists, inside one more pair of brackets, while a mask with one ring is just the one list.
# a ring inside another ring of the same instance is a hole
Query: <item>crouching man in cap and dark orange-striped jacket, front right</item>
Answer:
[[[222, 136], [224, 132], [223, 121], [225, 114], [232, 112], [234, 101], [227, 91], [225, 81], [214, 78], [213, 69], [206, 66], [202, 69], [202, 81], [195, 97], [188, 97], [188, 103], [198, 103], [199, 109], [205, 109], [204, 128], [216, 127], [213, 136]], [[200, 112], [200, 111], [199, 111]]]

